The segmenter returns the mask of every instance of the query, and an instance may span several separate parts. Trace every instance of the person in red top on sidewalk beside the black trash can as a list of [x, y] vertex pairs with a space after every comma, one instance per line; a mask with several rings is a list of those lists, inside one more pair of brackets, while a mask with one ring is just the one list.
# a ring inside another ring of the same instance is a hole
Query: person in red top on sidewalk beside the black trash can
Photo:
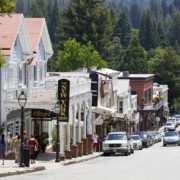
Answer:
[[31, 138], [28, 141], [28, 145], [30, 146], [31, 164], [33, 164], [35, 163], [36, 153], [38, 151], [38, 141], [34, 135], [31, 135]]

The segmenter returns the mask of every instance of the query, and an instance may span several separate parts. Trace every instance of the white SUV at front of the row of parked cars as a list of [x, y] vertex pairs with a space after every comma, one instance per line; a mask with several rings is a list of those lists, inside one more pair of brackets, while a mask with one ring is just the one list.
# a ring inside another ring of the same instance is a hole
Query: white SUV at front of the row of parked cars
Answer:
[[133, 142], [126, 132], [108, 133], [103, 142], [103, 154], [122, 153], [129, 155], [134, 152]]

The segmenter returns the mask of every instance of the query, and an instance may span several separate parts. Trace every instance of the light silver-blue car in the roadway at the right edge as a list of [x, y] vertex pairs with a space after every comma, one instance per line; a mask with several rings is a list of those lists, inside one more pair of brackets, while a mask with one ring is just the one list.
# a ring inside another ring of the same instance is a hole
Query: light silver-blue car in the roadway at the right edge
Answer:
[[180, 137], [178, 131], [166, 131], [163, 137], [163, 146], [168, 144], [177, 144], [180, 146]]

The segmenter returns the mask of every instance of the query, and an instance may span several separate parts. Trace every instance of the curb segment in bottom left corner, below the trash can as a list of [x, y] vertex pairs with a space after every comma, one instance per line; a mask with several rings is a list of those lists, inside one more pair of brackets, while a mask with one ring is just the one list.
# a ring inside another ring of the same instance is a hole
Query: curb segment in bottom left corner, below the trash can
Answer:
[[17, 171], [14, 171], [14, 172], [0, 173], [0, 177], [13, 176], [13, 175], [18, 175], [18, 174], [26, 174], [26, 173], [37, 172], [37, 171], [43, 171], [45, 169], [46, 168], [44, 166], [37, 166], [37, 167], [33, 167], [31, 169], [26, 169], [26, 170], [17, 170]]

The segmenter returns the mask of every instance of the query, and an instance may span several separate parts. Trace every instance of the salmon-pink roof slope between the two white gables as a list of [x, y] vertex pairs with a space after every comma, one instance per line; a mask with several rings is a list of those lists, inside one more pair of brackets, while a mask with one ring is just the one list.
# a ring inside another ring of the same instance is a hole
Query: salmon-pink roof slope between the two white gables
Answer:
[[44, 22], [44, 18], [25, 18], [25, 24], [27, 27], [27, 32], [30, 38], [30, 43], [33, 52], [38, 51]]

